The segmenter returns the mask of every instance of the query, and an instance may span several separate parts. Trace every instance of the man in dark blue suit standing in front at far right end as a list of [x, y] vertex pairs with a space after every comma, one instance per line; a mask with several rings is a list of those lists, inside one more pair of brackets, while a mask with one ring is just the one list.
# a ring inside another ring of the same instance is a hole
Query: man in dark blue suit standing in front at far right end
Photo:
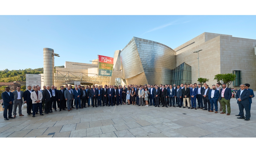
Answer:
[[[238, 90], [236, 93], [236, 99], [239, 107], [239, 113], [240, 117], [237, 117], [238, 119], [245, 119], [246, 121], [250, 120], [251, 113], [249, 110], [249, 96], [250, 91], [245, 89], [245, 84], [241, 84], [240, 88], [241, 90]], [[244, 116], [243, 109], [245, 109], [246, 117]]]

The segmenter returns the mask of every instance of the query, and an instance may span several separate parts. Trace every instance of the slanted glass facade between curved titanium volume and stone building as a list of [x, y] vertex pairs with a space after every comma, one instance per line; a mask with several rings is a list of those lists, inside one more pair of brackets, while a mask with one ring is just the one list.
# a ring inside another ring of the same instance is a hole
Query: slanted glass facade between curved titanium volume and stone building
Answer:
[[183, 62], [181, 65], [172, 70], [172, 85], [191, 84], [191, 66]]

